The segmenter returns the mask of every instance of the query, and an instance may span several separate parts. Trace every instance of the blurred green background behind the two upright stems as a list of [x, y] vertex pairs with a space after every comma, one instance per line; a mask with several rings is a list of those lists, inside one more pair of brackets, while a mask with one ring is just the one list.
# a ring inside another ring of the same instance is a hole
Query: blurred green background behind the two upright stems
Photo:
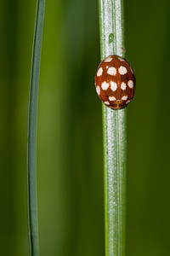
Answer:
[[[36, 0], [0, 2], [0, 255], [27, 256], [26, 125]], [[125, 1], [127, 255], [170, 255], [170, 2]], [[48, 0], [37, 126], [41, 256], [104, 256], [97, 0]]]

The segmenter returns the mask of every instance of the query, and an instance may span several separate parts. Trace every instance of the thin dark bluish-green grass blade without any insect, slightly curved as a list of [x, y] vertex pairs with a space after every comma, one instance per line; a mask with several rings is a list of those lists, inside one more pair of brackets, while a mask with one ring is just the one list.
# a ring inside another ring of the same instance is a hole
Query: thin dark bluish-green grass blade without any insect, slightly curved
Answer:
[[37, 96], [42, 49], [45, 0], [37, 0], [37, 15], [31, 62], [27, 135], [27, 215], [30, 256], [39, 255], [37, 224]]

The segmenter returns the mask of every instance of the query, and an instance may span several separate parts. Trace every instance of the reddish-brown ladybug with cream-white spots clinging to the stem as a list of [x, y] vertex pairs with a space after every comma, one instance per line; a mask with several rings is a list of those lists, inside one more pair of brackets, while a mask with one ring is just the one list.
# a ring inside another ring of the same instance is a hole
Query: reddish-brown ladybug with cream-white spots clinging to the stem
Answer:
[[133, 99], [134, 85], [133, 70], [122, 57], [110, 55], [99, 64], [95, 87], [105, 106], [114, 109], [126, 107]]

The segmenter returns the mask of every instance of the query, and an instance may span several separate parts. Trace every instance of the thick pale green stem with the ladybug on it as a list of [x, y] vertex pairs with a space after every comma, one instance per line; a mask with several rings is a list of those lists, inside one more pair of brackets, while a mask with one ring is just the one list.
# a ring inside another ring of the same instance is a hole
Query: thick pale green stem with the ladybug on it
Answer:
[[[122, 0], [99, 0], [101, 60], [124, 57]], [[103, 105], [105, 154], [105, 255], [126, 253], [127, 108]]]

